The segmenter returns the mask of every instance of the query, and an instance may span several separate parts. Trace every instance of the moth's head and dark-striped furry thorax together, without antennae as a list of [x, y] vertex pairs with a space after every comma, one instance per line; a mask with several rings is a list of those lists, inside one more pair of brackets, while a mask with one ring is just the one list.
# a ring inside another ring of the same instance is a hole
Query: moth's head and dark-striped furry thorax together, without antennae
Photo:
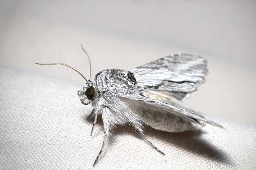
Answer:
[[142, 88], [130, 71], [106, 69], [95, 76], [95, 81], [89, 80], [85, 83], [77, 95], [82, 104], [92, 104], [96, 107], [98, 100], [105, 93], [115, 96], [117, 94], [138, 94], [141, 90]]

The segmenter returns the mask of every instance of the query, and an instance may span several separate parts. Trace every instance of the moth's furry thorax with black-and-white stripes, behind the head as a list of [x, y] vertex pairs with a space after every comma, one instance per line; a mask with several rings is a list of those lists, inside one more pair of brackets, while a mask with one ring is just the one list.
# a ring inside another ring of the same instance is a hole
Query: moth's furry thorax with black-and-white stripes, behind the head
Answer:
[[95, 76], [95, 82], [99, 94], [105, 92], [131, 94], [139, 89], [133, 74], [119, 69], [102, 70]]

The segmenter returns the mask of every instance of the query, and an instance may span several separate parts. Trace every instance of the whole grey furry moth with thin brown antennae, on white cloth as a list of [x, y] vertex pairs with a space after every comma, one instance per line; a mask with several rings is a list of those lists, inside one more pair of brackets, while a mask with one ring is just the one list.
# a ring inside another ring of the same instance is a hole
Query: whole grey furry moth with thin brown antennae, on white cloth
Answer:
[[88, 116], [95, 114], [91, 135], [99, 114], [102, 114], [105, 134], [93, 166], [103, 151], [107, 136], [116, 125], [131, 124], [163, 155], [164, 153], [144, 135], [145, 126], [167, 132], [197, 130], [205, 123], [223, 128], [222, 125], [180, 105], [182, 100], [188, 99], [205, 81], [208, 70], [204, 58], [191, 54], [175, 54], [129, 71], [102, 70], [92, 80], [90, 58], [83, 48], [82, 50], [87, 54], [90, 63], [89, 80], [64, 63], [40, 65], [64, 65], [78, 72], [86, 80], [77, 95], [82, 104], [93, 106], [93, 111]]

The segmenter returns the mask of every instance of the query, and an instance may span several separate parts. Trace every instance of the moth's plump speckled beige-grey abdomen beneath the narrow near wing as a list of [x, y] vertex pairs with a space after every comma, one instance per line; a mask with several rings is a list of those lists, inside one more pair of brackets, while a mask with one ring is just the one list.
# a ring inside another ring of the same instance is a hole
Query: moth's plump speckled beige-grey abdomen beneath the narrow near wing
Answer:
[[167, 132], [183, 132], [198, 128], [197, 125], [188, 119], [159, 109], [153, 105], [144, 103], [142, 105], [144, 105], [141, 113], [143, 121], [146, 125], [149, 125], [154, 129]]

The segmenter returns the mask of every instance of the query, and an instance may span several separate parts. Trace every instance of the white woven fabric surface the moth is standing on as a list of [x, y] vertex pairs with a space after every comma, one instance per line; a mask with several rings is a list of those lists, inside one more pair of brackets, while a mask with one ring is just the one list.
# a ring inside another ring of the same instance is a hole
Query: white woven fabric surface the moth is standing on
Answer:
[[[76, 93], [82, 85], [30, 71], [0, 70], [0, 169], [255, 169], [256, 128], [215, 120], [197, 132], [168, 133], [148, 127], [145, 135], [118, 126], [98, 164], [104, 129]], [[207, 115], [205, 115], [207, 117]], [[209, 117], [208, 117], [209, 118]]]

